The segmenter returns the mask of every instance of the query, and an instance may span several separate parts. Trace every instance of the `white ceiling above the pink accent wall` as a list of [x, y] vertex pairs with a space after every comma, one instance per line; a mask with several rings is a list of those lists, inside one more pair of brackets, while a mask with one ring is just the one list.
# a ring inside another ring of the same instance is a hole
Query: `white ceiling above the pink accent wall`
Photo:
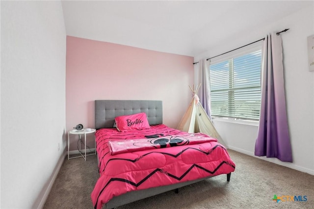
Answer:
[[69, 36], [188, 56], [308, 6], [313, 0], [62, 1]]

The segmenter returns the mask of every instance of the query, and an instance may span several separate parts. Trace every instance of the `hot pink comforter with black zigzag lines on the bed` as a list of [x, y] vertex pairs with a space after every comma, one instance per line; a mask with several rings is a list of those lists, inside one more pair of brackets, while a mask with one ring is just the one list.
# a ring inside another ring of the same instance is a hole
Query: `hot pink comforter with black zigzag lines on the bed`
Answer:
[[159, 146], [161, 149], [146, 147], [147, 150], [133, 150], [116, 155], [110, 154], [108, 146], [109, 141], [145, 138], [154, 140], [161, 136], [175, 137], [186, 134], [188, 133], [165, 125], [140, 131], [96, 131], [100, 178], [91, 194], [94, 207], [101, 209], [103, 204], [114, 196], [133, 190], [228, 174], [235, 170], [235, 163], [226, 149], [209, 136], [205, 136], [208, 139], [205, 143]]

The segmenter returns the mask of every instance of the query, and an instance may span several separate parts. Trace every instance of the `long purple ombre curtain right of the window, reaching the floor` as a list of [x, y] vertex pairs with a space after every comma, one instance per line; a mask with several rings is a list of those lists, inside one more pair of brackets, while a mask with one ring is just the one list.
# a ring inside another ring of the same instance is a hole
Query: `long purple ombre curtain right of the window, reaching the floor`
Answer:
[[262, 104], [255, 155], [292, 162], [281, 35], [268, 34], [262, 51]]

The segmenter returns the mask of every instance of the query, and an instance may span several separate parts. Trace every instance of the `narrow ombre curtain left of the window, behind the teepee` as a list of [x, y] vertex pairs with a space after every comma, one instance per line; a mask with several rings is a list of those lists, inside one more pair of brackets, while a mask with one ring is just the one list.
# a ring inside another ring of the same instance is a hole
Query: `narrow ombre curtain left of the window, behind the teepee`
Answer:
[[197, 96], [200, 98], [200, 103], [202, 104], [205, 112], [210, 116], [210, 95], [209, 95], [209, 71], [208, 71], [208, 61], [206, 59], [201, 59], [199, 61], [198, 69], [198, 83], [201, 84], [201, 87], [197, 93]]

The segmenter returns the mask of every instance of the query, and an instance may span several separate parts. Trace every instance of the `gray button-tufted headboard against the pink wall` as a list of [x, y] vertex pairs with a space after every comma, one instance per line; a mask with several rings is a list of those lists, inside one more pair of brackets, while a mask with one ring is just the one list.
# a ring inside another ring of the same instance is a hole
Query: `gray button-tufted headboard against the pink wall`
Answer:
[[150, 125], [162, 124], [162, 101], [95, 100], [95, 129], [113, 128], [114, 118], [145, 112]]

